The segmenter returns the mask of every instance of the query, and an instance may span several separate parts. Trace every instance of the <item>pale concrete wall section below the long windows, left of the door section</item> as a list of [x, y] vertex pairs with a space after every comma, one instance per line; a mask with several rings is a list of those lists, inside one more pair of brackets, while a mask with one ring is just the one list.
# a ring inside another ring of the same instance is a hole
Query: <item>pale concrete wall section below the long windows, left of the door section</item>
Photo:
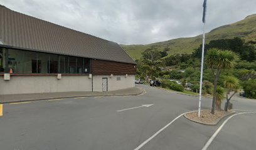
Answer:
[[11, 76], [4, 81], [0, 76], [0, 94], [56, 93], [92, 91], [92, 79], [88, 76]]

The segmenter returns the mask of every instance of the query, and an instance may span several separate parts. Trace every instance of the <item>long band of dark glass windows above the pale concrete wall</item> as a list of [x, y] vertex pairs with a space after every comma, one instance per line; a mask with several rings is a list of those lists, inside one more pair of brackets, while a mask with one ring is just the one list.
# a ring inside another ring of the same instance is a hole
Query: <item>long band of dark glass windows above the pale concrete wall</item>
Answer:
[[[0, 49], [0, 73], [4, 72], [4, 54]], [[85, 74], [89, 73], [90, 59], [58, 54], [37, 53], [8, 49], [8, 72], [14, 74]]]

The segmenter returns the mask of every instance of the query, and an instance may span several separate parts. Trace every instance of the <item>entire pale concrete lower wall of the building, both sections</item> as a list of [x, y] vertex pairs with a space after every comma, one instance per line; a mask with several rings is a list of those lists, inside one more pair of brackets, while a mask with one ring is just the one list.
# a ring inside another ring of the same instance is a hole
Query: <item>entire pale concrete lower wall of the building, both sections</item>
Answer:
[[[117, 81], [120, 77], [120, 81]], [[135, 86], [135, 76], [93, 76], [93, 91], [102, 92], [102, 78], [108, 80], [108, 91], [132, 88]], [[56, 93], [72, 91], [92, 91], [92, 79], [88, 76], [11, 76], [4, 81], [0, 76], [0, 94], [24, 93]]]

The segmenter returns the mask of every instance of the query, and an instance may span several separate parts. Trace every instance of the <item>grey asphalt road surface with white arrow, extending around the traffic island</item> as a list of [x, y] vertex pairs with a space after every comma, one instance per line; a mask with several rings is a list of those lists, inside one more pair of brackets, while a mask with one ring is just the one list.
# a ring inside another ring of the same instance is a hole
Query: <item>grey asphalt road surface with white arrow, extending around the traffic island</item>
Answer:
[[[224, 121], [217, 126], [204, 126], [183, 116], [176, 119], [180, 114], [196, 110], [198, 98], [146, 85], [139, 88], [144, 88], [146, 93], [4, 104], [0, 149], [202, 149]], [[233, 103], [236, 109], [256, 108], [254, 101], [243, 104], [239, 99]], [[203, 98], [202, 109], [210, 106], [211, 99]], [[256, 148], [255, 142], [248, 141], [256, 135], [253, 118], [255, 114], [230, 119], [208, 149], [220, 149], [216, 145], [230, 148], [222, 142], [224, 139], [235, 143], [232, 148]]]

